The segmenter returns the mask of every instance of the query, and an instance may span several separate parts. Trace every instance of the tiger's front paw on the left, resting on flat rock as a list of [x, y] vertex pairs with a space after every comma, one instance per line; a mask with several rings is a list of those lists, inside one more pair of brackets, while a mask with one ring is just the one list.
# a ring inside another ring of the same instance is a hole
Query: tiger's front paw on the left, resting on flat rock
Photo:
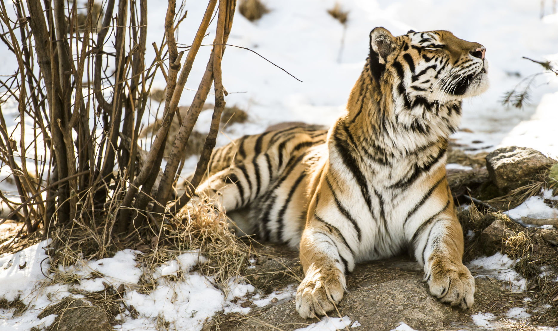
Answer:
[[296, 310], [302, 318], [325, 315], [343, 299], [345, 276], [336, 267], [309, 267], [296, 290]]

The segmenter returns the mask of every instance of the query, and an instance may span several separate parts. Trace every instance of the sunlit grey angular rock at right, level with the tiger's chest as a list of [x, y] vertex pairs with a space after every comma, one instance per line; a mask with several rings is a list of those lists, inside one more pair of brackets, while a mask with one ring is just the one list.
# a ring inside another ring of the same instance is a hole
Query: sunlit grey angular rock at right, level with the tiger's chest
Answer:
[[533, 148], [517, 146], [498, 148], [486, 161], [488, 176], [501, 193], [528, 184], [533, 175], [556, 162]]

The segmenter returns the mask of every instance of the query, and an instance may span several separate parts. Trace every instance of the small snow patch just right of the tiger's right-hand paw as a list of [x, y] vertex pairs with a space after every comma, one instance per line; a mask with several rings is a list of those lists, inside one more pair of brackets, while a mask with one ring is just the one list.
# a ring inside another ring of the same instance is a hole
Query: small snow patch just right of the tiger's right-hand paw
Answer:
[[475, 258], [469, 262], [469, 269], [477, 272], [476, 277], [491, 276], [506, 285], [511, 285], [513, 292], [525, 291], [527, 280], [513, 270], [517, 261], [512, 260], [507, 255], [496, 252], [493, 256]]

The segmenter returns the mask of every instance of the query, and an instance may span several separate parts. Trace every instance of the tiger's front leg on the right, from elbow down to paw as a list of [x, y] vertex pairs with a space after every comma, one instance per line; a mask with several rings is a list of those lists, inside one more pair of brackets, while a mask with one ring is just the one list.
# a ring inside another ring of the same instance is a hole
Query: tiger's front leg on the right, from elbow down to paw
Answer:
[[463, 265], [463, 232], [453, 212], [427, 220], [413, 239], [431, 294], [461, 309], [473, 306], [475, 280]]

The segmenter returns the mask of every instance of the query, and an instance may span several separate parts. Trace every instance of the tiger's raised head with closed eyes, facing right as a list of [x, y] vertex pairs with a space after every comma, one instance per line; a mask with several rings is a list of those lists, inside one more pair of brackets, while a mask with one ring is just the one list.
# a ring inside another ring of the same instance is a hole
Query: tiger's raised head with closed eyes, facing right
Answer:
[[[391, 83], [394, 101], [415, 104], [456, 102], [488, 89], [486, 49], [449, 31], [395, 37], [386, 28], [370, 33], [370, 68], [380, 85]], [[387, 81], [386, 81], [387, 80]]]

